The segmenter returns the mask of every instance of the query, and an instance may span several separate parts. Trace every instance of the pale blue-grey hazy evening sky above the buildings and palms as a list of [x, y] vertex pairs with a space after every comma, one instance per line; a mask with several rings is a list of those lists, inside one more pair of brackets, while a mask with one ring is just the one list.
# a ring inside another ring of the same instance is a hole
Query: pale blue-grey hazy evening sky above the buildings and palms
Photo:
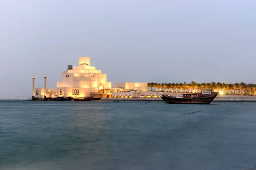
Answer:
[[1, 0], [0, 98], [56, 88], [67, 65], [115, 82], [256, 84], [255, 0]]

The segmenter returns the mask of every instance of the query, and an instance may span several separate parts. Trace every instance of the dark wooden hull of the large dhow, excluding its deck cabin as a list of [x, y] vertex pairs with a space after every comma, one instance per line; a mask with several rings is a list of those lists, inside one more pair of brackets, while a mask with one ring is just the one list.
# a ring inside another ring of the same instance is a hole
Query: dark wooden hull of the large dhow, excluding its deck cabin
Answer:
[[210, 95], [200, 96], [198, 98], [183, 98], [162, 95], [162, 99], [169, 104], [210, 104], [217, 95], [218, 93], [216, 92]]

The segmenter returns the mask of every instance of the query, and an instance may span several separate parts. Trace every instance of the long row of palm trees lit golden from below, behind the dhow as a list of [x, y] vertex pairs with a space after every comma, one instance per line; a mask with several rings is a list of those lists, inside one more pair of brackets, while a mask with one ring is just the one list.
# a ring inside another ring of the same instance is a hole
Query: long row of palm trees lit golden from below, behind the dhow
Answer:
[[223, 94], [233, 95], [256, 95], [256, 84], [211, 82], [211, 83], [147, 83], [148, 91], [163, 91], [163, 92], [177, 92], [177, 93], [198, 93], [202, 89], [212, 89]]

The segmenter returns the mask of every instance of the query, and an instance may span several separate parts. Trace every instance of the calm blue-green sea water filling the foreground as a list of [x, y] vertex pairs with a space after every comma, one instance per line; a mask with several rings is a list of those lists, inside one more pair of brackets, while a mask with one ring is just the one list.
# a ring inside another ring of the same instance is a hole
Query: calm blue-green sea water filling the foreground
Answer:
[[256, 166], [255, 109], [0, 100], [0, 169], [242, 170]]

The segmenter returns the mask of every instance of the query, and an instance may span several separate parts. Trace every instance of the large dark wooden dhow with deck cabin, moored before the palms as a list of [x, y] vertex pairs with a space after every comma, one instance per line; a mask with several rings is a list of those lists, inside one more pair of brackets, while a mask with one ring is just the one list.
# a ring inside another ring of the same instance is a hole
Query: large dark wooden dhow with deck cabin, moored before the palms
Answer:
[[161, 94], [161, 97], [169, 104], [210, 104], [217, 95], [218, 92], [212, 92], [212, 89], [203, 89], [201, 93], [189, 93], [183, 96]]

